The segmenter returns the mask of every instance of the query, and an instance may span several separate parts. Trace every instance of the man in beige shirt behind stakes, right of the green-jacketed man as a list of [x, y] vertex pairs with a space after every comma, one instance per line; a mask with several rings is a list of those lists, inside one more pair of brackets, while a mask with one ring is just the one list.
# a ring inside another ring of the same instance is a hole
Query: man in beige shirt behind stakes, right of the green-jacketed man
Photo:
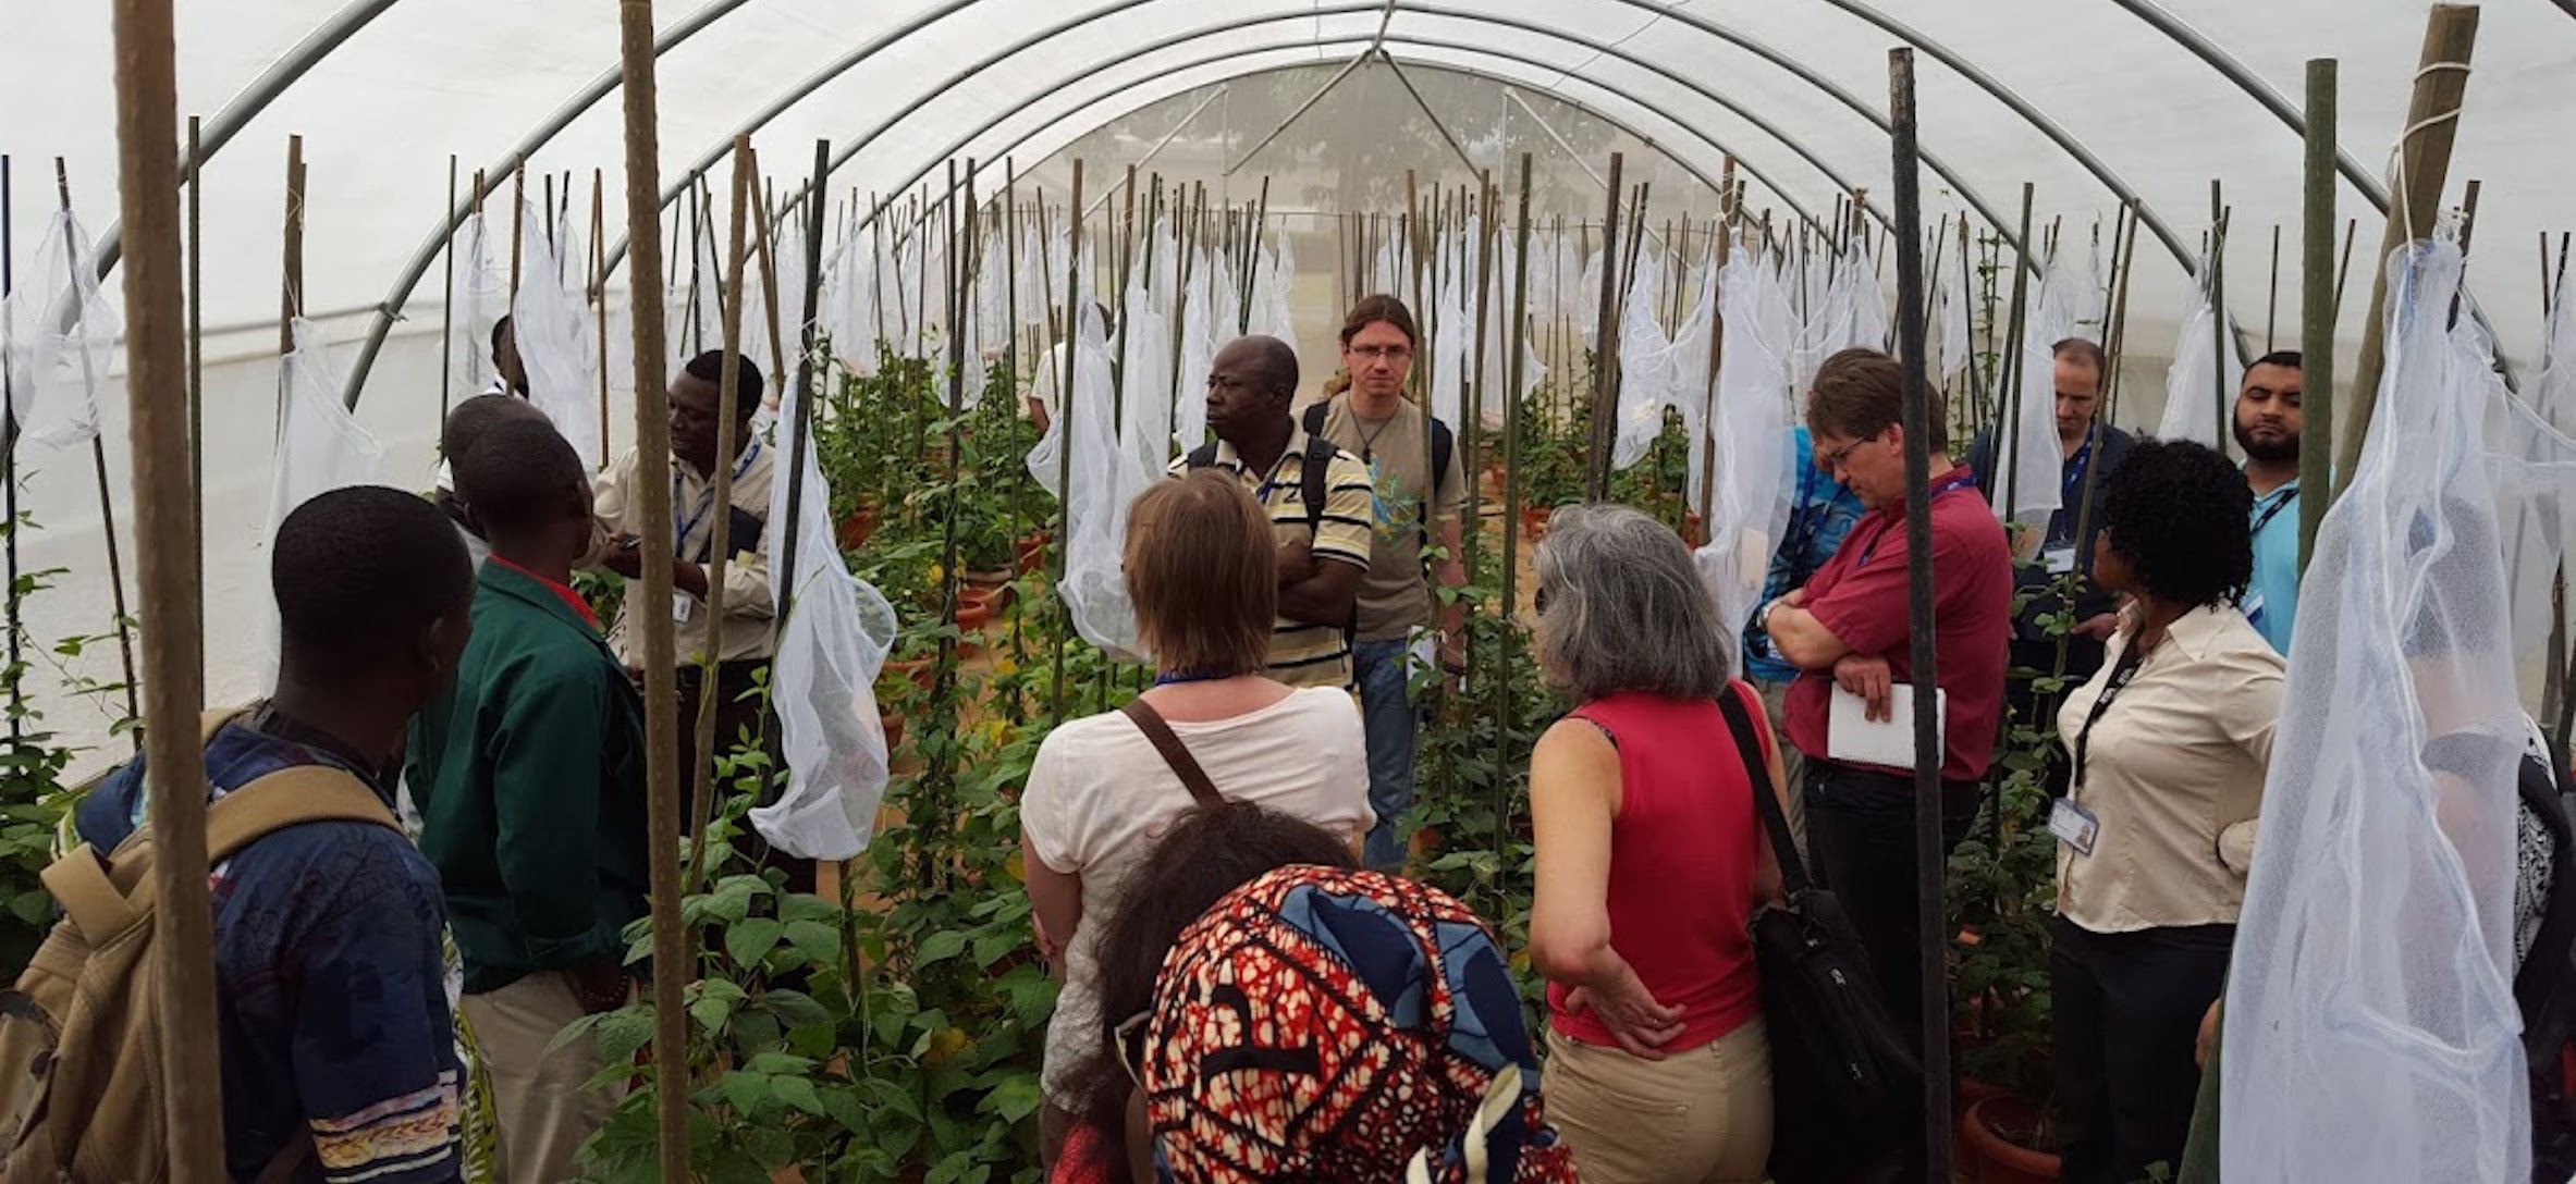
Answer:
[[[644, 499], [636, 492], [636, 453], [626, 453], [595, 479], [595, 504], [600, 538], [605, 543], [595, 566], [629, 579], [626, 605], [616, 628], [608, 631], [608, 649], [626, 669], [644, 669], [644, 628], [639, 613], [670, 613], [675, 654], [680, 659], [680, 777], [683, 795], [696, 780], [696, 721], [698, 698], [706, 692], [701, 661], [714, 649], [716, 656], [716, 744], [732, 749], [734, 739], [760, 728], [760, 705], [744, 703], [752, 690], [752, 672], [765, 667], [778, 651], [778, 605], [770, 597], [770, 564], [762, 556], [760, 535], [770, 517], [770, 448], [752, 435], [752, 412], [760, 409], [760, 365], [739, 358], [734, 391], [734, 456], [716, 456], [716, 430], [724, 409], [724, 353], [708, 350], [688, 360], [670, 381], [670, 525], [675, 535], [670, 605], [644, 605], [639, 577], [644, 574]], [[706, 569], [716, 546], [716, 466], [734, 474], [726, 559], [724, 559], [724, 620], [711, 620], [706, 610]]]

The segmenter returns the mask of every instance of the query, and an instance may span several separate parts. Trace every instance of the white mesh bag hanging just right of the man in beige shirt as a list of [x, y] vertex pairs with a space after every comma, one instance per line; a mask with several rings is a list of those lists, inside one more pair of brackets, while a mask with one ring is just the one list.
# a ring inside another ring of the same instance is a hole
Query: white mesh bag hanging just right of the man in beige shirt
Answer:
[[[786, 793], [752, 808], [752, 829], [770, 847], [801, 860], [848, 860], [876, 834], [876, 806], [886, 798], [886, 728], [876, 713], [876, 674], [894, 649], [894, 605], [850, 574], [832, 538], [832, 486], [824, 484], [814, 445], [796, 445], [804, 391], [788, 389], [778, 420], [781, 456], [804, 453], [804, 489], [796, 523], [796, 571], [778, 579], [778, 656], [770, 661], [770, 705], [778, 708], [778, 746], [786, 757]], [[770, 571], [786, 571], [788, 474], [770, 484], [770, 530], [762, 551]]]

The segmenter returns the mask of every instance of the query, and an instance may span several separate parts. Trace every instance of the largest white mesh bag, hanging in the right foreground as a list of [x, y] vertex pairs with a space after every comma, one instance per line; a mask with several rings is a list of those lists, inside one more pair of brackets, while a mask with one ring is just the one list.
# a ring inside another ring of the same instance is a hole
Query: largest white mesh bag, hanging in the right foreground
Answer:
[[2522, 1181], [2514, 775], [2527, 723], [2460, 252], [2391, 263], [2388, 373], [2303, 582], [2236, 932], [2221, 1171]]

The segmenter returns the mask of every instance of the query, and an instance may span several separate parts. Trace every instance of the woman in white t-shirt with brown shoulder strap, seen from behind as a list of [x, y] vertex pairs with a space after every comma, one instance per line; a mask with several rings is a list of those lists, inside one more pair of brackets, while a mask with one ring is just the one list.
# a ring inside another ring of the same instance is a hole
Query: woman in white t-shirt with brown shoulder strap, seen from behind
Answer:
[[[1046, 1032], [1048, 1163], [1072, 1120], [1072, 1071], [1100, 1022], [1097, 924], [1084, 919], [1115, 909], [1154, 837], [1211, 793], [1352, 842], [1373, 824], [1368, 741], [1350, 692], [1262, 677], [1278, 543], [1252, 494], [1218, 471], [1146, 489], [1128, 507], [1123, 566], [1139, 636], [1157, 659], [1154, 690], [1048, 734], [1020, 798], [1038, 947], [1064, 976]], [[1167, 757], [1149, 731], [1167, 731], [1177, 752]]]

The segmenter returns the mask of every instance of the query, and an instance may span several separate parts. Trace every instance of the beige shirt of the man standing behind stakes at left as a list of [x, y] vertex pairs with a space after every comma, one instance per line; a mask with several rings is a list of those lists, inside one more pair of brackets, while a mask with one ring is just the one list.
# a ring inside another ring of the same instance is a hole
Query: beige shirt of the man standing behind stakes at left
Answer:
[[[770, 517], [770, 463], [773, 448], [757, 438], [744, 445], [744, 453], [734, 456], [734, 507], [752, 515], [762, 525]], [[706, 564], [708, 548], [716, 541], [716, 484], [690, 468], [685, 461], [672, 458], [672, 499], [670, 520], [672, 530], [680, 533], [677, 556], [690, 564]], [[605, 541], [641, 535], [644, 533], [644, 502], [636, 492], [636, 453], [626, 453], [618, 463], [608, 466], [598, 479], [592, 479], [592, 515]], [[739, 659], [768, 659], [778, 651], [775, 618], [778, 602], [770, 600], [770, 561], [762, 556], [760, 538], [744, 538], [742, 523], [726, 538], [732, 556], [724, 561], [724, 625], [719, 631], [719, 661]], [[644, 628], [636, 613], [659, 610], [677, 618], [672, 605], [641, 605], [644, 582], [626, 582], [626, 607], [618, 610], [616, 628], [608, 631], [608, 649], [618, 654], [631, 669], [644, 669]], [[690, 597], [688, 592], [672, 589], [680, 600], [690, 602], [688, 620], [675, 620], [672, 633], [680, 661], [698, 661], [706, 654], [706, 602]]]

